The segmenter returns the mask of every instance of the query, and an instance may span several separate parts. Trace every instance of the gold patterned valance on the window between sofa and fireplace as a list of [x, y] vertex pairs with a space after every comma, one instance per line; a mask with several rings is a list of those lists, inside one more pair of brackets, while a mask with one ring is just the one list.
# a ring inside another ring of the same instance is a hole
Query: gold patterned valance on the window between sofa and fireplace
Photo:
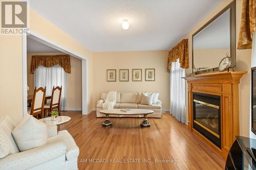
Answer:
[[179, 59], [181, 68], [188, 68], [188, 39], [180, 41], [171, 51], [169, 51], [167, 71], [170, 72], [172, 62]]

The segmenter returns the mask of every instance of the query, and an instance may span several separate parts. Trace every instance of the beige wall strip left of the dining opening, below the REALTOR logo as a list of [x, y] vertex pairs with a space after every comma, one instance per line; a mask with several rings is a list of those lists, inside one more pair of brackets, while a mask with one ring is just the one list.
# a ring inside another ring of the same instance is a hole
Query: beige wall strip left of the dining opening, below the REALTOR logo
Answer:
[[22, 119], [22, 36], [0, 35], [0, 116]]

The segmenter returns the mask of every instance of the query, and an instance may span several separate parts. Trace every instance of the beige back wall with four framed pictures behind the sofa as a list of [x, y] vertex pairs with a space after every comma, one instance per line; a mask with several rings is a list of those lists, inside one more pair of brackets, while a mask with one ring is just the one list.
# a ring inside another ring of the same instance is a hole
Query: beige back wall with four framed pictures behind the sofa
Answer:
[[[100, 93], [110, 90], [120, 92], [160, 92], [163, 109], [169, 109], [169, 74], [166, 72], [168, 51], [97, 52], [93, 53], [93, 106]], [[132, 81], [132, 69], [142, 69], [142, 82]], [[156, 69], [156, 81], [145, 81], [145, 68]], [[117, 82], [106, 82], [106, 70], [117, 69]], [[129, 69], [129, 82], [119, 82], [119, 69]]]

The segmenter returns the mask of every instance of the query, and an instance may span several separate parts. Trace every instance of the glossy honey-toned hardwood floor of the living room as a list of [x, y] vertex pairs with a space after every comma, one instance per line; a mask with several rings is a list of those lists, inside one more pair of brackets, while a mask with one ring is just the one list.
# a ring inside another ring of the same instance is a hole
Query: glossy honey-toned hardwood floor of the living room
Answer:
[[95, 112], [61, 115], [72, 118], [59, 129], [74, 137], [80, 149], [80, 170], [224, 169], [222, 157], [169, 113], [148, 118], [150, 128], [140, 127], [142, 118], [111, 118], [113, 127], [105, 128], [101, 125], [104, 118], [96, 118]]

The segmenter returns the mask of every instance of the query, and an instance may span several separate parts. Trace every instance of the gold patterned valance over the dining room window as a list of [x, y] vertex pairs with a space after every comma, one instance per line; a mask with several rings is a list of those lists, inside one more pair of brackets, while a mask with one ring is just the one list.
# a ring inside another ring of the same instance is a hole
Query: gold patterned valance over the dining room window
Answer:
[[52, 67], [54, 65], [61, 66], [65, 72], [71, 73], [70, 56], [69, 55], [54, 55], [54, 56], [32, 56], [30, 62], [30, 74], [39, 66]]

